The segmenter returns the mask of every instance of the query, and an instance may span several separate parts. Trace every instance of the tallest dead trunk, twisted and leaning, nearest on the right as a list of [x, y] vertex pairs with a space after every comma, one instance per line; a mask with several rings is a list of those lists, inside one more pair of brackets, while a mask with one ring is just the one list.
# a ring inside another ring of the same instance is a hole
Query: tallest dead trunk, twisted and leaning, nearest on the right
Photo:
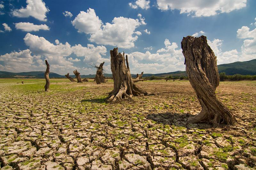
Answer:
[[233, 113], [215, 95], [220, 78], [216, 56], [207, 44], [206, 37], [187, 36], [183, 38], [181, 47], [188, 79], [202, 106], [202, 111], [190, 117], [188, 123], [211, 122], [216, 127], [223, 120], [227, 125], [234, 125]]

